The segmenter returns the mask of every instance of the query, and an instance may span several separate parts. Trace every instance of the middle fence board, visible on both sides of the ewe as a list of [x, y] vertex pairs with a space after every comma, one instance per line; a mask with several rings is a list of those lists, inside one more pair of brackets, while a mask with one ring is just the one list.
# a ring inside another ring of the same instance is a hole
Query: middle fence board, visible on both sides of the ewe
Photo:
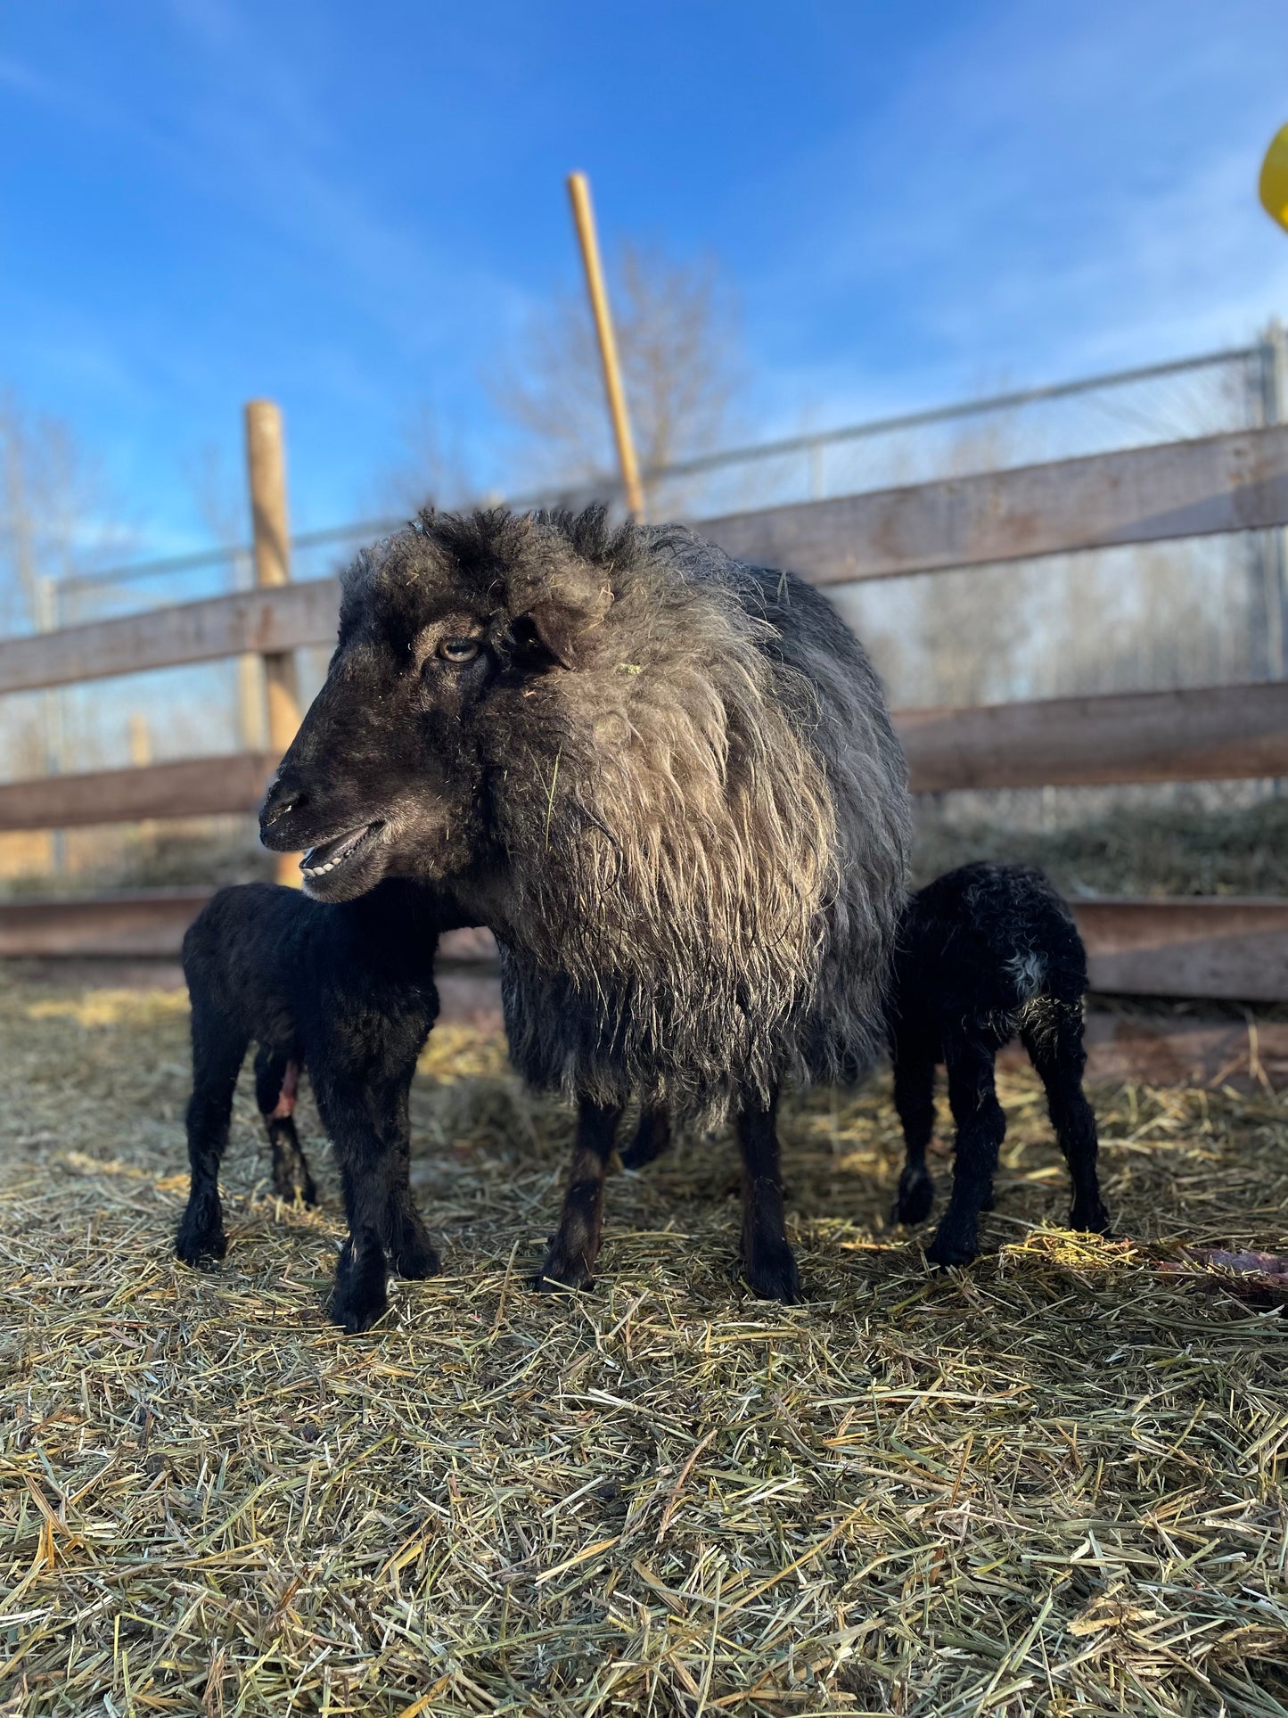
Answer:
[[[1288, 775], [1288, 684], [905, 710], [895, 725], [920, 794]], [[256, 811], [258, 752], [0, 785], [0, 830]]]

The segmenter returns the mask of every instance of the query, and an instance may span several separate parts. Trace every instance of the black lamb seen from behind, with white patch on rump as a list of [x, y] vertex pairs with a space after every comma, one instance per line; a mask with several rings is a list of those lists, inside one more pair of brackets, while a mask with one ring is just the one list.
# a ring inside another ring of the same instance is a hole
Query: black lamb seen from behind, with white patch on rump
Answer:
[[953, 1192], [927, 1258], [965, 1264], [979, 1251], [979, 1213], [1006, 1134], [998, 1051], [1018, 1036], [1046, 1086], [1051, 1124], [1073, 1180], [1073, 1228], [1108, 1230], [1096, 1179], [1096, 1117], [1082, 1091], [1087, 953], [1068, 907], [1027, 866], [975, 862], [915, 893], [895, 950], [888, 1008], [895, 1105], [907, 1167], [896, 1216], [922, 1221], [934, 1199], [926, 1146], [934, 1132], [934, 1070], [948, 1072], [957, 1124]]

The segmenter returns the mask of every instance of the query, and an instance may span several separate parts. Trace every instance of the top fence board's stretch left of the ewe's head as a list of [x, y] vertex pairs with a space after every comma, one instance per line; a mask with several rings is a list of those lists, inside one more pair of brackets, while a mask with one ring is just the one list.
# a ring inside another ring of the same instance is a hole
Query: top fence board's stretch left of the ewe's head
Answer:
[[0, 692], [179, 668], [244, 651], [280, 655], [306, 644], [331, 644], [338, 605], [335, 579], [311, 579], [0, 639]]

